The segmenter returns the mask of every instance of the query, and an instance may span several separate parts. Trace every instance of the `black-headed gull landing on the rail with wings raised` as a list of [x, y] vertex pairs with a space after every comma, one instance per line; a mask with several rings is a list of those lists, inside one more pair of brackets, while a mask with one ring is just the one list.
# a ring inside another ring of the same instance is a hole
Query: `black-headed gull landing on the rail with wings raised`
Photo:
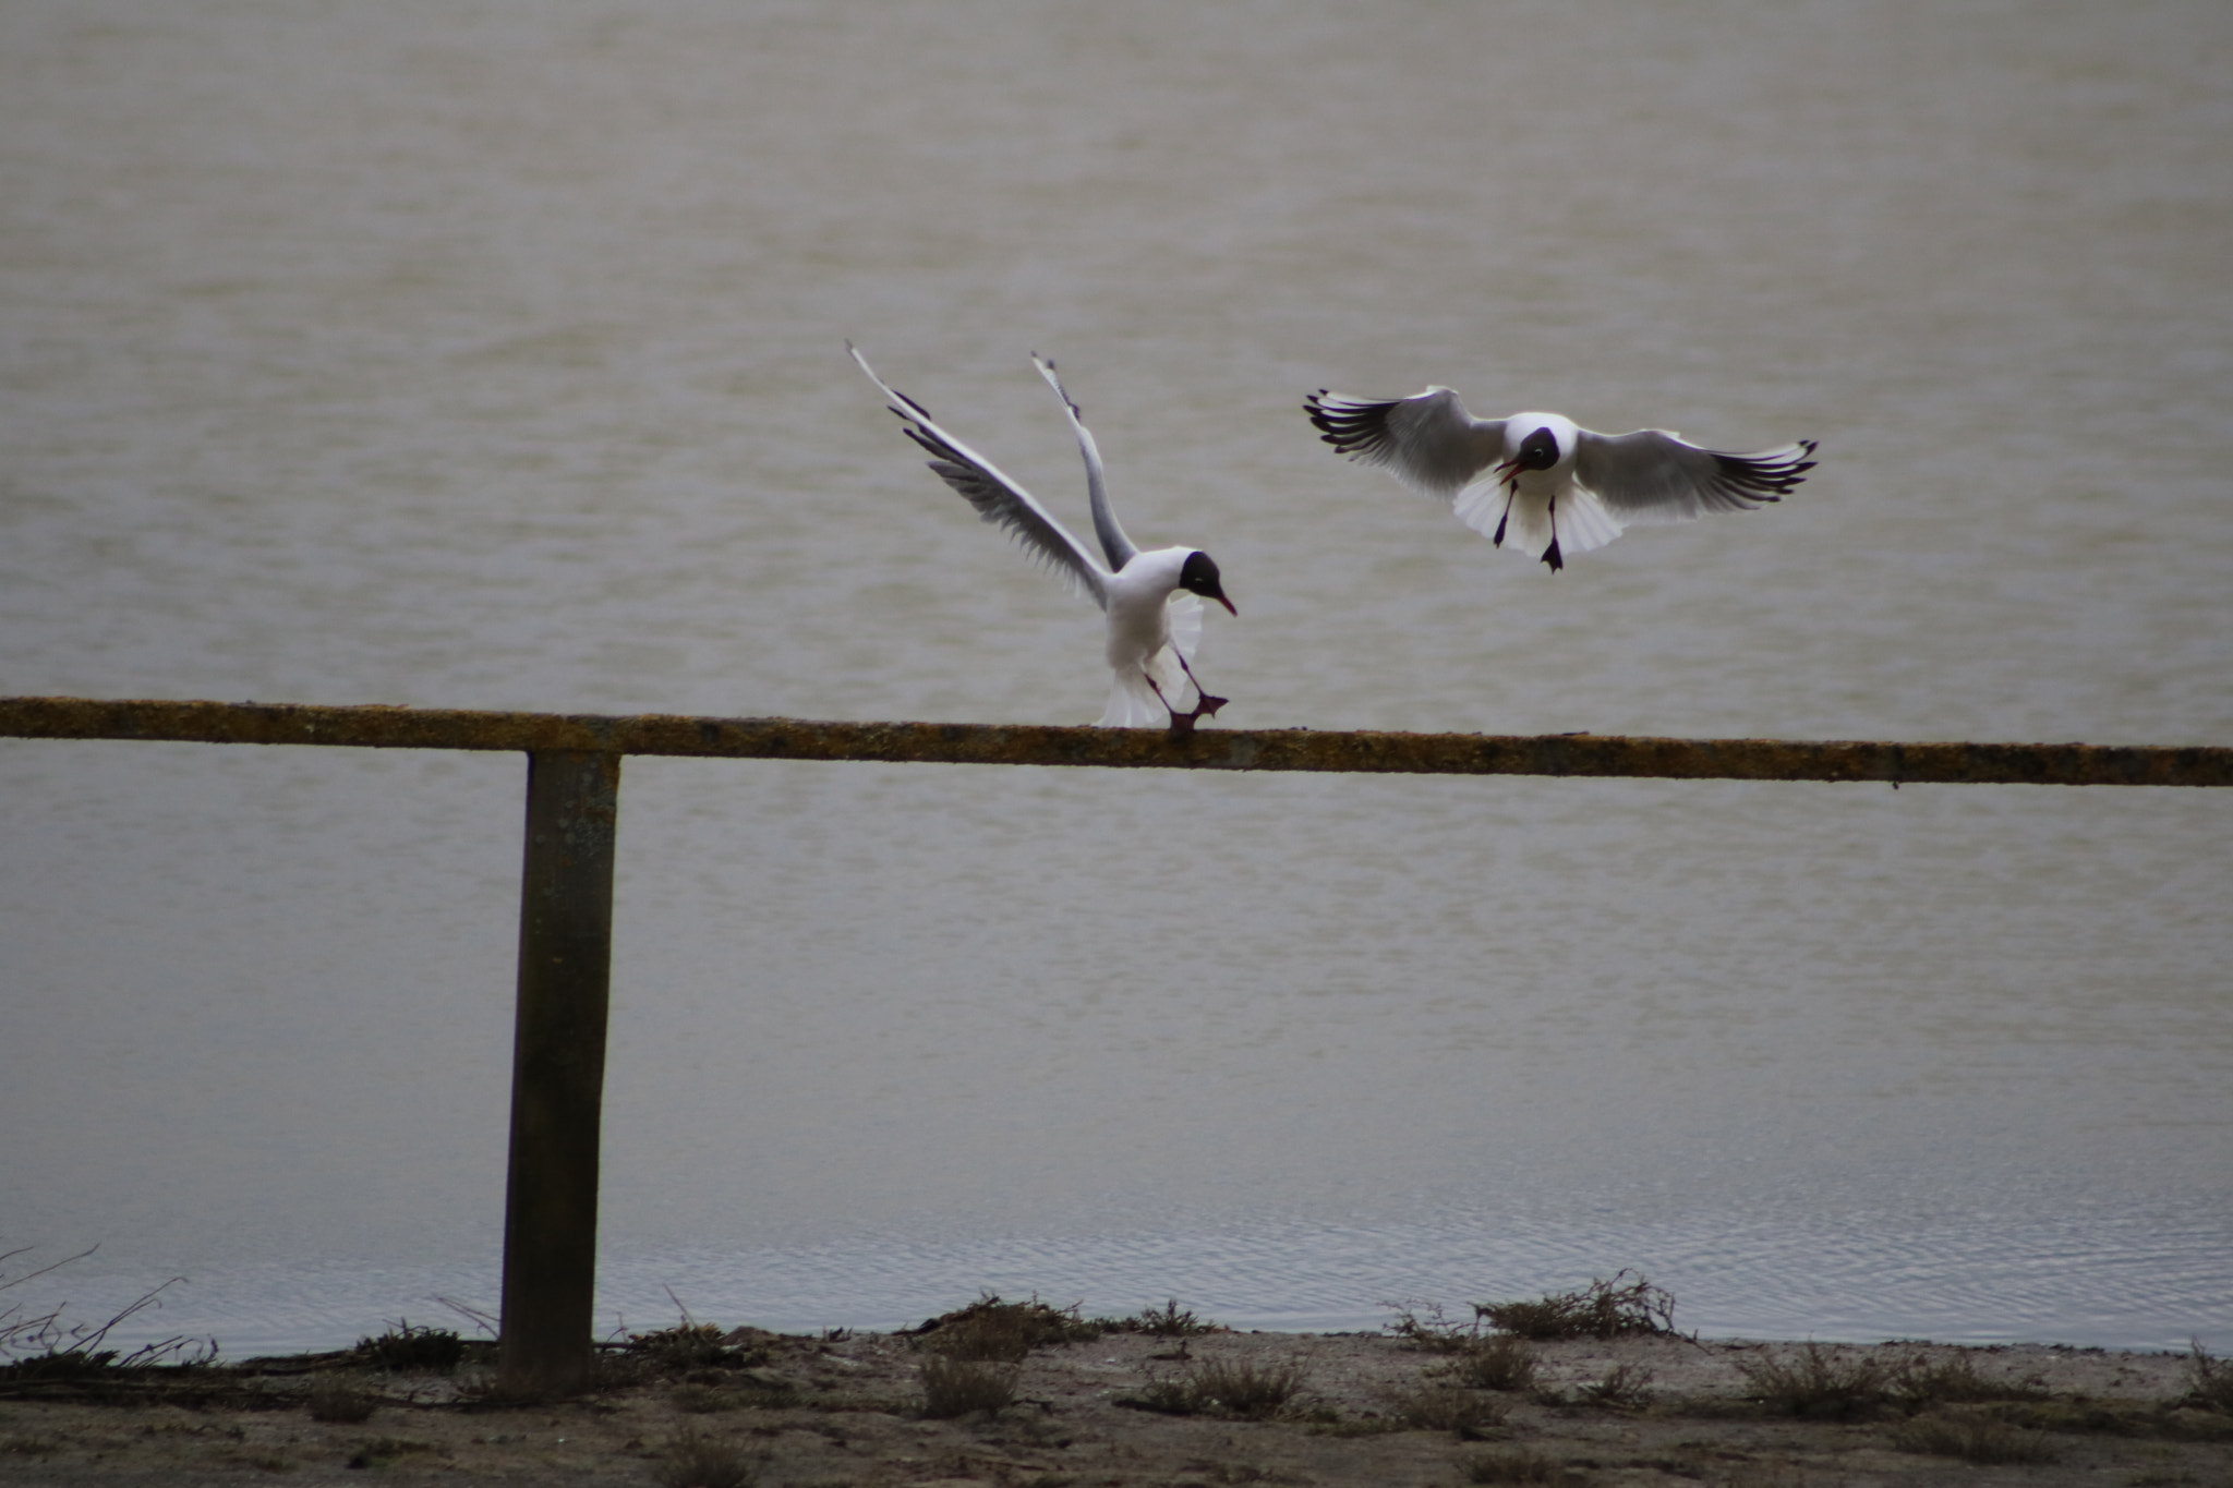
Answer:
[[[1085, 455], [1085, 495], [1092, 502], [1094, 533], [1101, 538], [1108, 564], [1096, 560], [991, 460], [949, 435], [922, 404], [878, 377], [857, 346], [846, 341], [846, 350], [853, 352], [853, 361], [860, 361], [860, 370], [869, 373], [869, 381], [891, 399], [891, 410], [907, 426], [907, 437], [931, 453], [931, 468], [976, 506], [978, 518], [1005, 526], [1034, 558], [1108, 613], [1108, 663], [1114, 680], [1101, 727], [1154, 727], [1168, 718], [1177, 738], [1195, 727], [1195, 718], [1226, 705], [1226, 698], [1215, 698], [1195, 683], [1195, 669], [1188, 665], [1201, 642], [1201, 600], [1217, 600], [1226, 611], [1239, 613], [1226, 598], [1217, 564], [1199, 549], [1166, 547], [1143, 553], [1132, 547], [1110, 509], [1101, 451], [1094, 446], [1079, 406], [1063, 388], [1063, 379], [1054, 375], [1052, 361], [1032, 352], [1032, 364], [1063, 399], [1070, 428], [1079, 435], [1079, 453]], [[1195, 694], [1195, 705], [1181, 712], [1179, 703], [1186, 700], [1188, 689]]]

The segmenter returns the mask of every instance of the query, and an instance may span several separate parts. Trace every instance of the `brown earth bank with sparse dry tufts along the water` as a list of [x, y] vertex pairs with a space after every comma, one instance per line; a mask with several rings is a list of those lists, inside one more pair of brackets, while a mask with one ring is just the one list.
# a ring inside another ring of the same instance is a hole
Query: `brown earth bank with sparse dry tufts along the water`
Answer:
[[[1487, 1390], [1456, 1374], [1483, 1341], [1114, 1332], [967, 1365], [1014, 1370], [1014, 1403], [933, 1419], [927, 1370], [956, 1368], [936, 1334], [636, 1343], [596, 1392], [540, 1405], [489, 1399], [487, 1345], [440, 1374], [348, 1352], [0, 1379], [0, 1484], [2233, 1484], [2233, 1414], [2179, 1354], [1661, 1334], [1534, 1343], [1534, 1379]], [[1204, 1388], [1235, 1381], [1300, 1385], [1242, 1419]], [[351, 1403], [371, 1414], [330, 1419]]]

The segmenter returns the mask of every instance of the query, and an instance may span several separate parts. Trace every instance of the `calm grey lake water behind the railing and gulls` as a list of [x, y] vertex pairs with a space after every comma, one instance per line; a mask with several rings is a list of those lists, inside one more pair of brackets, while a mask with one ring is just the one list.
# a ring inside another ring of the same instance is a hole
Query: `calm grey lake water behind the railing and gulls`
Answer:
[[[1061, 359], [1237, 727], [2233, 743], [2233, 11], [0, 9], [0, 692], [1083, 723]], [[1447, 381], [1789, 502], [1559, 576]], [[0, 743], [0, 1294], [493, 1312], [518, 759]], [[2233, 1347], [2233, 792], [632, 761], [598, 1327]], [[672, 1296], [670, 1296], [672, 1292]], [[123, 1339], [123, 1334], [118, 1334]]]

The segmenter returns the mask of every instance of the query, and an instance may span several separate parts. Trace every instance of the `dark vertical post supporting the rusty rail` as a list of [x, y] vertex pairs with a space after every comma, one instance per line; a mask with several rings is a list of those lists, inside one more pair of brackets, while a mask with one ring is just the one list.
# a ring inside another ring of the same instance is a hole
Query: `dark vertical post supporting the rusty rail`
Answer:
[[619, 803], [619, 754], [527, 756], [496, 1379], [516, 1399], [567, 1394], [590, 1379]]

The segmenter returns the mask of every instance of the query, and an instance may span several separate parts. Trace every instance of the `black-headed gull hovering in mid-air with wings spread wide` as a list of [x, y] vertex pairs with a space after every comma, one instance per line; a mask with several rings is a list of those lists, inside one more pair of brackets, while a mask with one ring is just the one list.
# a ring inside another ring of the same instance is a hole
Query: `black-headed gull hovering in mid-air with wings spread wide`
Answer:
[[1449, 388], [1371, 404], [1320, 388], [1302, 402], [1320, 435], [1351, 460], [1387, 466], [1458, 520], [1552, 569], [1630, 522], [1688, 522], [1782, 500], [1813, 468], [1815, 442], [1751, 455], [1684, 444], [1664, 428], [1601, 435], [1556, 413], [1476, 419]]

